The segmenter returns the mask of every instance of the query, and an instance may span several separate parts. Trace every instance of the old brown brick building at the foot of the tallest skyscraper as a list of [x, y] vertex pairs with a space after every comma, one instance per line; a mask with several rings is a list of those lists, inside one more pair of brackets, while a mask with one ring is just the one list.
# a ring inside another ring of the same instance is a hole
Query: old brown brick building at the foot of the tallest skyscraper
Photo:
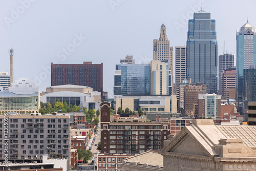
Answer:
[[196, 85], [189, 84], [184, 86], [184, 113], [195, 115], [195, 105], [198, 105], [198, 94], [206, 94], [206, 86], [198, 82]]

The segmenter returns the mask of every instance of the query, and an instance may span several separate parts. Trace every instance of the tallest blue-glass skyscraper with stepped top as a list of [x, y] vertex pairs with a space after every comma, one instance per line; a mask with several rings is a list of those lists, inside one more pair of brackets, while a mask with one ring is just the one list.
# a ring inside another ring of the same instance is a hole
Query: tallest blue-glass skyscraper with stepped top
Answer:
[[188, 20], [187, 78], [206, 84], [207, 93], [217, 94], [218, 42], [215, 19], [203, 10]]

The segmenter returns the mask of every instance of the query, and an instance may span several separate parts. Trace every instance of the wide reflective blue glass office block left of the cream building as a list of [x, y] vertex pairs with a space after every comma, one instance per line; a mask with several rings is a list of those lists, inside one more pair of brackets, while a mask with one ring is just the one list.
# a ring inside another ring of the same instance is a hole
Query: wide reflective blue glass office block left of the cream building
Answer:
[[121, 64], [121, 94], [150, 95], [150, 64]]

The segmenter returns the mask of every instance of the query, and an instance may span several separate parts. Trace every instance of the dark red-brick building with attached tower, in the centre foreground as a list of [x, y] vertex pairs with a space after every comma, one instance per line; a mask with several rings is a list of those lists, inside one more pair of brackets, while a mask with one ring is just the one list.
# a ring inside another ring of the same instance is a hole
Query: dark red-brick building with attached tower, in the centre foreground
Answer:
[[111, 122], [110, 103], [101, 103], [101, 153], [143, 153], [161, 149], [169, 124], [160, 122]]

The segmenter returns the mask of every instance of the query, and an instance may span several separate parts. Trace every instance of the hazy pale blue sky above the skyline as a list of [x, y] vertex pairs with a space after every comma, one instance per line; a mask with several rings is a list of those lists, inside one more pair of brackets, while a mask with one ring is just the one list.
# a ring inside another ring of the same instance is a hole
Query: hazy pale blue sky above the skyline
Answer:
[[119, 59], [129, 54], [150, 62], [163, 23], [170, 45], [184, 46], [188, 18], [201, 4], [216, 19], [218, 55], [226, 40], [236, 56], [236, 29], [247, 17], [256, 26], [256, 1], [0, 0], [0, 71], [9, 72], [12, 47], [14, 79], [30, 78], [45, 91], [51, 62], [103, 62], [103, 90], [112, 96]]

